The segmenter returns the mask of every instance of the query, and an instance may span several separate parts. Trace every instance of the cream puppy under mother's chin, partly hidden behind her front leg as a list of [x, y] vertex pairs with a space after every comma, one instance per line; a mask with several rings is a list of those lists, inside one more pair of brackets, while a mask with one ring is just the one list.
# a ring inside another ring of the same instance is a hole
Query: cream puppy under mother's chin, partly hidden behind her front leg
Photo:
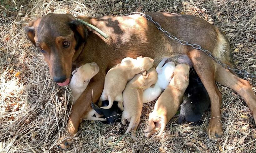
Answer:
[[[88, 86], [92, 77], [94, 77], [100, 68], [96, 63], [86, 63], [81, 67], [77, 68], [72, 72], [73, 77], [69, 83], [69, 88], [71, 89], [71, 100], [70, 104], [74, 105], [79, 96], [84, 92], [86, 87]], [[95, 115], [96, 117], [94, 117]], [[104, 118], [100, 118], [103, 115], [98, 114], [96, 111], [91, 109], [88, 114], [84, 116], [84, 119], [88, 120], [97, 120], [97, 121], [105, 121]]]

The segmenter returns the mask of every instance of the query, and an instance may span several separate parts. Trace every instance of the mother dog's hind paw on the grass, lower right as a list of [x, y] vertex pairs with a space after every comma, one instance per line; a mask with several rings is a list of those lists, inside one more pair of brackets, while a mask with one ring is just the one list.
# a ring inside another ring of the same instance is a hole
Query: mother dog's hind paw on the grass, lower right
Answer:
[[209, 126], [207, 127], [207, 135], [211, 140], [217, 140], [222, 137], [222, 123], [220, 117], [210, 119]]

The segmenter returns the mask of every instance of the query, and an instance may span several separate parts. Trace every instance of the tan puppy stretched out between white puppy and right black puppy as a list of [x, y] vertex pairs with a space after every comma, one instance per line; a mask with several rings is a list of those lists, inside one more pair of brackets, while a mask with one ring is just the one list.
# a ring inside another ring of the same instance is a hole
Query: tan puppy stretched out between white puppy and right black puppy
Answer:
[[[150, 137], [158, 130], [160, 130], [158, 134], [158, 137], [160, 137], [166, 124], [176, 114], [188, 86], [189, 69], [190, 66], [187, 64], [177, 64], [172, 80], [156, 101], [154, 111], [149, 115], [149, 125], [144, 130], [146, 137]], [[156, 122], [156, 126], [154, 122]]]

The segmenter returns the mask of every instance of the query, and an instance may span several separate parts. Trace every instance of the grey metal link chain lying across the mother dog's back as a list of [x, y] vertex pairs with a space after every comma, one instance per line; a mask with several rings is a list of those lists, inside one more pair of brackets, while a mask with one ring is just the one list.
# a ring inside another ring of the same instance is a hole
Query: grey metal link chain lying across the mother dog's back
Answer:
[[[236, 68], [231, 68], [229, 67], [227, 64], [225, 63], [222, 63], [217, 57], [214, 57], [212, 56], [212, 53], [210, 51], [208, 51], [207, 49], [203, 49], [200, 45], [197, 45], [197, 44], [190, 44], [188, 43], [187, 41], [184, 41], [184, 40], [180, 40], [178, 39], [177, 37], [171, 35], [169, 32], [167, 32], [164, 28], [161, 27], [161, 25], [158, 23], [158, 22], [155, 22], [151, 16], [147, 15], [147, 14], [144, 14], [144, 13], [140, 13], [140, 12], [132, 12], [130, 14], [127, 14], [127, 15], [134, 15], [134, 14], [139, 14], [143, 17], [145, 17], [147, 20], [153, 22], [156, 26], [157, 29], [161, 30], [167, 37], [169, 37], [170, 39], [172, 40], [175, 40], [177, 42], [179, 42], [180, 44], [182, 45], [185, 45], [185, 46], [191, 46], [195, 49], [198, 49], [198, 50], [201, 50], [202, 52], [204, 52], [207, 56], [211, 57], [212, 60], [218, 64], [220, 64], [222, 67], [224, 67], [225, 69], [227, 70], [230, 70], [230, 71], [233, 71], [234, 73], [236, 74], [239, 74], [239, 75], [242, 75], [243, 76], [243, 79], [246, 79], [246, 78], [256, 78], [256, 76], [248, 73], [247, 71], [245, 70], [239, 70], [239, 69], [236, 69]], [[127, 16], [125, 15], [125, 16]]]

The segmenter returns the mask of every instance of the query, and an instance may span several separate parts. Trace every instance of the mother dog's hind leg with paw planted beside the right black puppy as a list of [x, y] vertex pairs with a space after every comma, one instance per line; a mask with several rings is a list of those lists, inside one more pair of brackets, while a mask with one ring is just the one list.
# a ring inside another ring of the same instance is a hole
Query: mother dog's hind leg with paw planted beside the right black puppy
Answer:
[[210, 139], [216, 140], [222, 136], [220, 112], [222, 96], [214, 81], [216, 63], [213, 63], [212, 59], [196, 49], [191, 50], [188, 56], [209, 94], [211, 100], [211, 119], [207, 128], [207, 134]]

